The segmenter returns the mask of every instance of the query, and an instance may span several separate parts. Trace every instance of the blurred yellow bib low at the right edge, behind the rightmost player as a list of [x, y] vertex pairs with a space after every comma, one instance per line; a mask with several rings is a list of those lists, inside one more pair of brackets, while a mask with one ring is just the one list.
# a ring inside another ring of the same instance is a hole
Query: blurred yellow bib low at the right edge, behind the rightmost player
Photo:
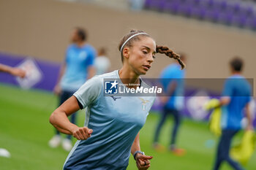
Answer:
[[230, 155], [236, 161], [246, 164], [255, 151], [255, 132], [245, 131], [241, 143], [230, 150]]

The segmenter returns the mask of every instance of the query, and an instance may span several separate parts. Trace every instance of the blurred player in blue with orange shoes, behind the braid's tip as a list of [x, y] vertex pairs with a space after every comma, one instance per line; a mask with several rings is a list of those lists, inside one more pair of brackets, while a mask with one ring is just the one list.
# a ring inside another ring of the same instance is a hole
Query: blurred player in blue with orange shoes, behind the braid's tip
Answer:
[[[181, 60], [186, 62], [186, 56], [181, 55]], [[176, 147], [176, 138], [178, 128], [181, 124], [181, 109], [184, 107], [184, 77], [185, 70], [181, 70], [181, 66], [177, 63], [172, 63], [167, 66], [160, 74], [160, 81], [165, 90], [166, 96], [161, 97], [163, 103], [162, 114], [157, 125], [157, 130], [154, 135], [153, 147], [155, 150], [163, 150], [163, 146], [159, 142], [159, 134], [168, 115], [173, 115], [174, 125], [171, 133], [169, 150], [175, 155], [184, 155], [185, 150]]]

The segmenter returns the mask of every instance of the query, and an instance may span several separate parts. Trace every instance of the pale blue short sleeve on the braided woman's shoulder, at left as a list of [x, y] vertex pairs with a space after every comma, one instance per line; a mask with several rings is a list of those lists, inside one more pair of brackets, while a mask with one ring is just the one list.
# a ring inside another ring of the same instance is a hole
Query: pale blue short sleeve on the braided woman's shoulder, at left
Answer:
[[86, 108], [97, 100], [101, 92], [102, 80], [99, 77], [92, 77], [74, 93], [74, 96], [82, 104], [83, 108]]

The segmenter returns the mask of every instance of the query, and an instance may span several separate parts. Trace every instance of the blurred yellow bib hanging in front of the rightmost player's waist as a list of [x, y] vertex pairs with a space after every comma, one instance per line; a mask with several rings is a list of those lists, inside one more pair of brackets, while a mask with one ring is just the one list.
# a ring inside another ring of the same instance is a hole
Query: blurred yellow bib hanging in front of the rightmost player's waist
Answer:
[[214, 109], [211, 112], [211, 117], [209, 120], [209, 128], [212, 133], [216, 136], [220, 136], [222, 134], [222, 128], [220, 125], [221, 117], [222, 117], [222, 109], [219, 107], [219, 100], [217, 98], [213, 98], [208, 101], [205, 105], [205, 109]]

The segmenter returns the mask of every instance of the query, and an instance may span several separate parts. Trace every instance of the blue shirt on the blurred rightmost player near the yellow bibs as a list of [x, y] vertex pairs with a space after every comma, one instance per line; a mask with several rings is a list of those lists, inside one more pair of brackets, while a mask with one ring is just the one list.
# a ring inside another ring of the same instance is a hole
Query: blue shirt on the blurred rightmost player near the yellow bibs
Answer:
[[249, 82], [239, 74], [228, 77], [222, 96], [230, 97], [230, 103], [222, 107], [222, 129], [239, 130], [243, 110], [252, 98]]

